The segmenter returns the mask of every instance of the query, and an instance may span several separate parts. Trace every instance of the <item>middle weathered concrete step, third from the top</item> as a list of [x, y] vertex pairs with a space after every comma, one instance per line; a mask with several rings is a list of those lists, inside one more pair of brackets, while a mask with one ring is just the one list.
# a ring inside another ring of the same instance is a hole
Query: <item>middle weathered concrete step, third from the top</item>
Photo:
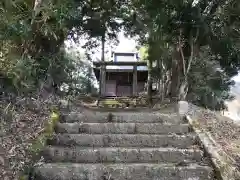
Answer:
[[57, 134], [48, 141], [50, 145], [90, 147], [178, 147], [196, 144], [193, 134]]

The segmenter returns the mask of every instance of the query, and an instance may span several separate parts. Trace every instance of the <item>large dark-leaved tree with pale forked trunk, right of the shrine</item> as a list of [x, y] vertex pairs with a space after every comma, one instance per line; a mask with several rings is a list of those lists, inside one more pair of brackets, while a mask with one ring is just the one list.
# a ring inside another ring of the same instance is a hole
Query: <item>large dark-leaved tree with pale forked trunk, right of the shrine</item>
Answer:
[[[186, 99], [192, 65], [200, 58], [203, 46], [210, 47], [215, 60], [228, 77], [236, 75], [239, 69], [239, 46], [233, 37], [236, 37], [236, 29], [239, 27], [236, 23], [237, 14], [233, 15], [229, 11], [233, 8], [232, 4], [238, 7], [239, 2], [133, 1], [132, 9], [136, 13], [132, 15], [131, 23], [126, 23], [131, 25], [127, 26], [129, 33], [138, 34], [144, 40], [143, 34], [155, 32], [155, 40], [160, 41], [166, 37], [164, 41], [168, 44], [168, 50], [173, 50], [171, 97]], [[234, 26], [229, 26], [230, 24]], [[161, 49], [156, 44], [154, 48]], [[160, 54], [157, 59], [161, 59]]]

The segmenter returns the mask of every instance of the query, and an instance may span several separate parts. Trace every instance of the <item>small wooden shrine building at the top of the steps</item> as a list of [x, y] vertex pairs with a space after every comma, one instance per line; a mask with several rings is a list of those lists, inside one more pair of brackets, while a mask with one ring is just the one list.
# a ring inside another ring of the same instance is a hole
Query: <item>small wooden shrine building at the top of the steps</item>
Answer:
[[101, 97], [134, 97], [144, 91], [148, 68], [138, 53], [113, 52], [110, 61], [93, 65]]

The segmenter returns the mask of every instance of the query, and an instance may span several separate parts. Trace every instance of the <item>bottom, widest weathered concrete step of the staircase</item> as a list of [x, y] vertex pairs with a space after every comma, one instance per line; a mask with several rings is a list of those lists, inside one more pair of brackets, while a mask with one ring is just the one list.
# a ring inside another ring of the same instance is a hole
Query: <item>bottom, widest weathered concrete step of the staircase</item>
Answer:
[[192, 164], [44, 164], [34, 180], [212, 180], [212, 169]]

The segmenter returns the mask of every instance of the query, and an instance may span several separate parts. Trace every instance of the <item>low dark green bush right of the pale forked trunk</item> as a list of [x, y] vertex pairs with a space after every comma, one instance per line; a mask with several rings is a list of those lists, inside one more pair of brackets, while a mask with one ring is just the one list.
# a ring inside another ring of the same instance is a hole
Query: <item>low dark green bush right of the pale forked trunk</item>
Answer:
[[232, 99], [229, 91], [233, 81], [219, 67], [209, 48], [202, 49], [201, 56], [193, 62], [189, 75], [187, 99], [190, 102], [214, 110], [226, 108], [225, 101]]

